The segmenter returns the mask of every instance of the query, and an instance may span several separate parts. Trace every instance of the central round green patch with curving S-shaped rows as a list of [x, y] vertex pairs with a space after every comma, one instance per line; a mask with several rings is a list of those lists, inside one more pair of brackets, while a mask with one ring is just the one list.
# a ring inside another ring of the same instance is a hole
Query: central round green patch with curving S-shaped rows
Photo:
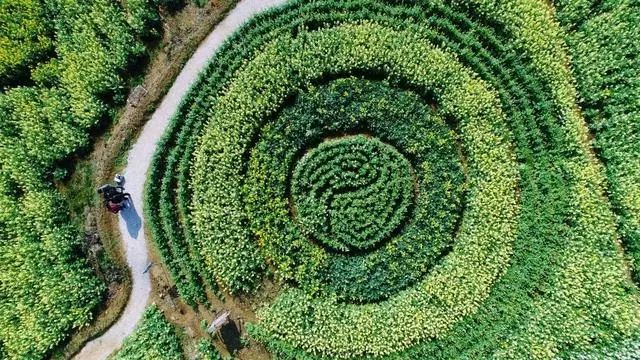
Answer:
[[326, 140], [296, 164], [296, 220], [307, 236], [334, 250], [369, 250], [406, 221], [415, 197], [413, 174], [407, 158], [375, 138]]

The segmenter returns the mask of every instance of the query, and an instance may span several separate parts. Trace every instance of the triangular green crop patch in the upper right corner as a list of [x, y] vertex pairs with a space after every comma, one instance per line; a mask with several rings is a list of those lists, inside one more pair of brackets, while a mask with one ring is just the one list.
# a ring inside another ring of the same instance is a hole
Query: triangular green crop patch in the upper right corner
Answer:
[[640, 12], [636, 2], [559, 1], [580, 94], [609, 196], [640, 282]]

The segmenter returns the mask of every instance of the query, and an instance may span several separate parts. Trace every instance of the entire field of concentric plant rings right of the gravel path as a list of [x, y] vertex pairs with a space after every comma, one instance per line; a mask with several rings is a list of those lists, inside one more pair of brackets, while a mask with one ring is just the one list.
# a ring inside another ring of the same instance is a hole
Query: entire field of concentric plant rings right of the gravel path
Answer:
[[250, 334], [276, 358], [546, 358], [640, 329], [559, 31], [520, 0], [251, 20], [147, 187], [182, 298], [275, 280]]

